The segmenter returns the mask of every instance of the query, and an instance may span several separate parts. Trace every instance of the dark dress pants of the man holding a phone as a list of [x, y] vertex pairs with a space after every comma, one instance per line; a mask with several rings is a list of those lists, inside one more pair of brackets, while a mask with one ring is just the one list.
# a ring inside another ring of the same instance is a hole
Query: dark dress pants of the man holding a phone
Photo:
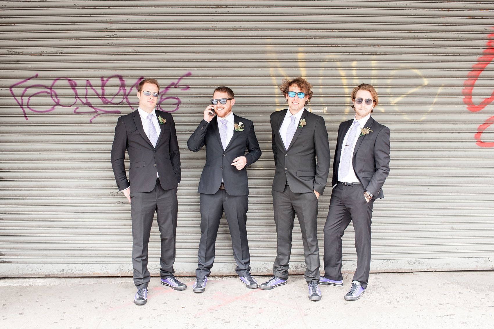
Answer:
[[250, 254], [247, 243], [247, 195], [230, 195], [225, 189], [215, 194], [200, 193], [201, 240], [197, 253], [196, 276], [204, 278], [211, 274], [214, 263], [216, 235], [223, 211], [232, 236], [233, 257], [237, 262], [235, 271], [242, 277], [250, 272]]

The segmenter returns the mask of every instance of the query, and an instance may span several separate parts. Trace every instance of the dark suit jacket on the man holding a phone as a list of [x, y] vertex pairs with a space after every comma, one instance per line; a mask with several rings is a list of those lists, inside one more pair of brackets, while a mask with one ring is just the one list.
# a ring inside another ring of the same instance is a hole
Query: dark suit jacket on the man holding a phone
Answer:
[[[187, 141], [187, 147], [197, 152], [206, 145], [206, 164], [199, 181], [199, 193], [214, 194], [221, 185], [230, 195], [248, 195], [247, 166], [256, 162], [261, 156], [261, 149], [254, 133], [252, 121], [233, 115], [235, 123], [242, 122], [244, 131], [236, 131], [230, 143], [223, 150], [218, 130], [217, 116], [210, 122], [201, 121], [197, 129]], [[246, 149], [248, 153], [245, 154]], [[238, 156], [247, 158], [247, 164], [242, 170], [232, 166], [233, 159]]]

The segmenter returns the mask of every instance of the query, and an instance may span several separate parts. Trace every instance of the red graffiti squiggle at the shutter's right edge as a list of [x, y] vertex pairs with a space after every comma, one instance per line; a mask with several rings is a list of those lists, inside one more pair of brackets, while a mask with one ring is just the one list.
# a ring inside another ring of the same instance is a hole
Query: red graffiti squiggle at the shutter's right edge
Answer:
[[[463, 102], [467, 105], [467, 109], [472, 112], [478, 112], [484, 109], [487, 105], [494, 101], [494, 90], [490, 97], [485, 98], [479, 104], [475, 104], [472, 100], [473, 89], [475, 88], [475, 83], [479, 78], [480, 74], [484, 72], [484, 69], [494, 60], [494, 33], [490, 34], [488, 37], [487, 48], [484, 49], [484, 55], [477, 59], [477, 63], [473, 65], [472, 71], [467, 75], [468, 79], [463, 83], [465, 87], [462, 91]], [[493, 147], [494, 142], [482, 141], [482, 133], [489, 128], [494, 123], [494, 117], [486, 120], [477, 129], [477, 134], [475, 134], [475, 139], [477, 140], [477, 145], [482, 147]]]

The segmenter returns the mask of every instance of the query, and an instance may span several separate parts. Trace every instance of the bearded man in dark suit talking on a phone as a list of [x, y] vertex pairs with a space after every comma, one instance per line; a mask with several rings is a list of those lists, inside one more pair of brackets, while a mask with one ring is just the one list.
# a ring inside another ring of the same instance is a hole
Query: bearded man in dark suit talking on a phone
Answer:
[[[250, 275], [247, 243], [248, 184], [246, 167], [259, 159], [261, 149], [252, 121], [232, 112], [233, 91], [228, 87], [214, 90], [212, 105], [204, 110], [204, 120], [187, 141], [191, 151], [206, 145], [206, 165], [199, 181], [201, 240], [199, 242], [196, 282], [192, 290], [203, 292], [214, 262], [214, 247], [219, 222], [225, 212], [236, 272], [247, 288], [257, 288]], [[248, 153], [245, 154], [246, 149]]]

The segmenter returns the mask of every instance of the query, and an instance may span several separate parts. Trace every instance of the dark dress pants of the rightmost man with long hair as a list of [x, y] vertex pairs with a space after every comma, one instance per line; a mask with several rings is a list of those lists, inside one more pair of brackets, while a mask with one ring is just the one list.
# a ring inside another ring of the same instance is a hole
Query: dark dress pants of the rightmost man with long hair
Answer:
[[367, 202], [362, 184], [335, 186], [331, 193], [328, 218], [324, 226], [324, 277], [329, 280], [343, 280], [341, 261], [343, 251], [341, 237], [353, 222], [357, 269], [353, 280], [367, 288], [371, 269], [371, 218], [374, 199]]

